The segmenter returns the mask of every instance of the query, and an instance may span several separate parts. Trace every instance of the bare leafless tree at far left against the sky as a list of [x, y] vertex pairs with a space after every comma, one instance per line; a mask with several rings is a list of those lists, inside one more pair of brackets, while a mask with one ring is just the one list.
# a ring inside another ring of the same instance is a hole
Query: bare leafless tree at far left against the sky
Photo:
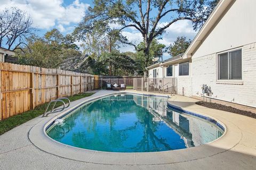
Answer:
[[33, 20], [30, 16], [12, 7], [0, 12], [0, 47], [7, 49], [21, 49], [21, 45], [27, 45], [26, 39], [33, 33]]

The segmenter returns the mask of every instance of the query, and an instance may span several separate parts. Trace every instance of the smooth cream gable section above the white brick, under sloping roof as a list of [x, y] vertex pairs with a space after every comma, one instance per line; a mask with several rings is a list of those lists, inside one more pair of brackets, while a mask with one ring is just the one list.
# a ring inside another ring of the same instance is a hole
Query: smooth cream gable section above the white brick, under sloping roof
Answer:
[[241, 47], [256, 41], [256, 1], [237, 0], [204, 39], [193, 58]]

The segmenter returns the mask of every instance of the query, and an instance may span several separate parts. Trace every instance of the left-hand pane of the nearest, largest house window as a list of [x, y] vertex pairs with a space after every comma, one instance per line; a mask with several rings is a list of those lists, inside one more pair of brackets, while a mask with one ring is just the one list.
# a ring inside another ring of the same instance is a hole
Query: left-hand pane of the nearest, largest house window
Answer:
[[228, 80], [228, 53], [219, 55], [219, 80]]

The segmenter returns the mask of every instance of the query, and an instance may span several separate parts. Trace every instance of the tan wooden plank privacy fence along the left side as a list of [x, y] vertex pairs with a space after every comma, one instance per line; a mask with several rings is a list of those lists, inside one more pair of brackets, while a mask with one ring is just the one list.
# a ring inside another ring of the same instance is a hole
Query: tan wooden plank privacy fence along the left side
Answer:
[[0, 62], [0, 120], [94, 88], [91, 74]]

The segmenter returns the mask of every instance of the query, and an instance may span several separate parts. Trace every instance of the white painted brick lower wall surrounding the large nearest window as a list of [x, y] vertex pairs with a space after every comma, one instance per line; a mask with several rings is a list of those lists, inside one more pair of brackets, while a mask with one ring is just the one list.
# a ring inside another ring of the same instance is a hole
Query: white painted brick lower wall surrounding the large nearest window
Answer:
[[217, 54], [193, 56], [191, 94], [200, 96], [202, 84], [207, 84], [214, 98], [256, 107], [256, 43], [243, 46], [242, 51], [243, 85], [217, 84]]

